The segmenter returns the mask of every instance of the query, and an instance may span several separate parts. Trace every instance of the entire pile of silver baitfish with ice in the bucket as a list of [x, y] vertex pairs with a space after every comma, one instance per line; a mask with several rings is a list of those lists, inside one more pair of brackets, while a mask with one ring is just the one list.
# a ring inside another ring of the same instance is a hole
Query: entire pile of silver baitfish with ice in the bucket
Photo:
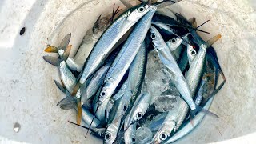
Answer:
[[[54, 82], [66, 98], [57, 106], [76, 110], [77, 122], [70, 123], [104, 143], [175, 142], [206, 114], [218, 118], [209, 107], [226, 82], [212, 47], [221, 36], [205, 42], [197, 32], [207, 32], [195, 18], [160, 14], [162, 3], [142, 3], [117, 17], [118, 7], [110, 18], [100, 16], [74, 58], [71, 34], [45, 50], [58, 53], [43, 57], [58, 66], [61, 82]], [[161, 93], [154, 88], [159, 79], [166, 90]]]

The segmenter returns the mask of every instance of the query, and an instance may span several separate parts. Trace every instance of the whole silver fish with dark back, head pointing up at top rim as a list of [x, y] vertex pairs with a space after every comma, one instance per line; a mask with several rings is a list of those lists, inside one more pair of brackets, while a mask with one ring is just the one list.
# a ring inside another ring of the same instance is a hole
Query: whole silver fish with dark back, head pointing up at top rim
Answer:
[[147, 14], [150, 10], [154, 10], [155, 7], [156, 6], [144, 4], [130, 8], [106, 29], [86, 60], [82, 77], [79, 81], [81, 84], [86, 81], [90, 74], [94, 73], [98, 66], [100, 66], [100, 63], [104, 61], [107, 55], [113, 50], [114, 45], [126, 34], [130, 27], [134, 26], [142, 16]]

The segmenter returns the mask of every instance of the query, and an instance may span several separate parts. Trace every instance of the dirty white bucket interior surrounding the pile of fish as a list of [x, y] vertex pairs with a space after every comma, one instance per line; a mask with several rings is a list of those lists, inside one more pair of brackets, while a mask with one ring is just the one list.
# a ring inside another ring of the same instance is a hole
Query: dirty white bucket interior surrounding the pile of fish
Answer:
[[[118, 0], [0, 2], [1, 143], [102, 143], [67, 122], [75, 121], [75, 113], [56, 106], [64, 97], [54, 85], [58, 70], [42, 56], [47, 44], [57, 45], [68, 33], [74, 55], [86, 31], [114, 3], [122, 6]], [[184, 0], [168, 8], [198, 23], [210, 19], [202, 30], [211, 34], [202, 38], [222, 34], [214, 47], [227, 81], [210, 106], [220, 118], [206, 117], [178, 143], [256, 142], [256, 3]]]

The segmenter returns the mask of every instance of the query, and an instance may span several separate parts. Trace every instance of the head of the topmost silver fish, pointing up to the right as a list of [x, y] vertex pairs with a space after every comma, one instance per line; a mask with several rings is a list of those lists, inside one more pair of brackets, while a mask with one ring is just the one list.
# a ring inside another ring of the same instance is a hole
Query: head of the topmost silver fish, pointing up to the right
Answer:
[[139, 6], [135, 6], [128, 12], [127, 20], [128, 22], [138, 22], [138, 19], [142, 18], [146, 13], [150, 10], [156, 10], [157, 6], [151, 6], [149, 4], [143, 4]]

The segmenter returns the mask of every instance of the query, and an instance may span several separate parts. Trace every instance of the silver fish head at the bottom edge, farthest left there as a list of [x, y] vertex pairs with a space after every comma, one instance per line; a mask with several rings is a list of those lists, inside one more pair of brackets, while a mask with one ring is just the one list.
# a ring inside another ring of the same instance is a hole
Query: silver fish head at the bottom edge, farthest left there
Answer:
[[104, 134], [104, 143], [113, 143], [115, 138], [117, 138], [118, 134], [118, 126], [114, 123], [111, 123], [106, 128], [106, 132]]

